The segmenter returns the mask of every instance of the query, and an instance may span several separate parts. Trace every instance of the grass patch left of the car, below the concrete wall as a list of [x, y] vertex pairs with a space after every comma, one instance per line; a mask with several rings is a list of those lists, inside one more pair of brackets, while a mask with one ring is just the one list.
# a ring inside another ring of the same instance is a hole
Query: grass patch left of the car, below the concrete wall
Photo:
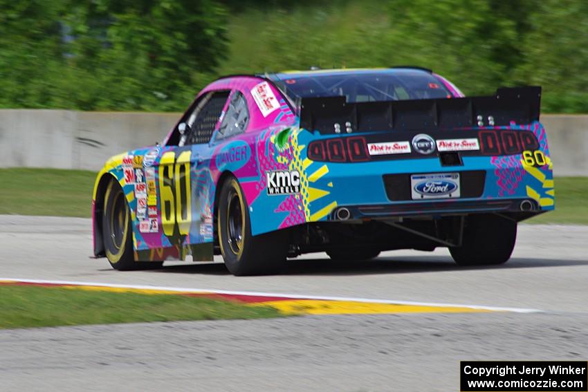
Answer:
[[89, 218], [95, 178], [84, 170], [0, 169], [0, 214]]

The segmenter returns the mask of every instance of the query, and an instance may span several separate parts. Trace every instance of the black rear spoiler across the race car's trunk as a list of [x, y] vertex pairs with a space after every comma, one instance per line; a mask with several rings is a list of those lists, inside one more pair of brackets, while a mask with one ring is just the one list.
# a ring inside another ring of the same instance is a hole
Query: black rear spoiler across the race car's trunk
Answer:
[[[347, 103], [345, 97], [302, 98], [300, 127], [322, 134], [529, 124], [539, 120], [541, 87], [498, 88], [495, 95]], [[336, 125], [338, 124], [338, 125]]]

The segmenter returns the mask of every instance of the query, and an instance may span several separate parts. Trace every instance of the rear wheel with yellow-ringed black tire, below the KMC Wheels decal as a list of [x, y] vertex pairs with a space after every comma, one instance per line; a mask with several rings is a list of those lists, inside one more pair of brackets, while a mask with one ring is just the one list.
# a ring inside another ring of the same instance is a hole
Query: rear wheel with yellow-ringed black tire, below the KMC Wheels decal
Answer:
[[284, 268], [287, 232], [251, 235], [249, 209], [235, 177], [228, 178], [221, 187], [217, 232], [225, 265], [235, 276], [272, 274]]

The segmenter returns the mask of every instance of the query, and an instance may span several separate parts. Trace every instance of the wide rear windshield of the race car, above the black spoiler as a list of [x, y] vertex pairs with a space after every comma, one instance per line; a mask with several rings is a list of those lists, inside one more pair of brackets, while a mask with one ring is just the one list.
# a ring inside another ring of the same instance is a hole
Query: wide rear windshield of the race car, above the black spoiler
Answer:
[[344, 96], [347, 102], [426, 100], [452, 97], [450, 91], [430, 73], [388, 71], [374, 73], [320, 73], [281, 75], [277, 86], [297, 102], [300, 98]]

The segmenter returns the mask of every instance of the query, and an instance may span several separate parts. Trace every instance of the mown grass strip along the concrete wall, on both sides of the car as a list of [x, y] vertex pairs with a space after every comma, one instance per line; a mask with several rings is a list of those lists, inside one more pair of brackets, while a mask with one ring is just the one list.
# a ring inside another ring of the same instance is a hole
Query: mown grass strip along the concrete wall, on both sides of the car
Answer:
[[[0, 169], [0, 214], [89, 217], [94, 180], [92, 171]], [[525, 222], [588, 225], [588, 177], [555, 178], [555, 211]]]

